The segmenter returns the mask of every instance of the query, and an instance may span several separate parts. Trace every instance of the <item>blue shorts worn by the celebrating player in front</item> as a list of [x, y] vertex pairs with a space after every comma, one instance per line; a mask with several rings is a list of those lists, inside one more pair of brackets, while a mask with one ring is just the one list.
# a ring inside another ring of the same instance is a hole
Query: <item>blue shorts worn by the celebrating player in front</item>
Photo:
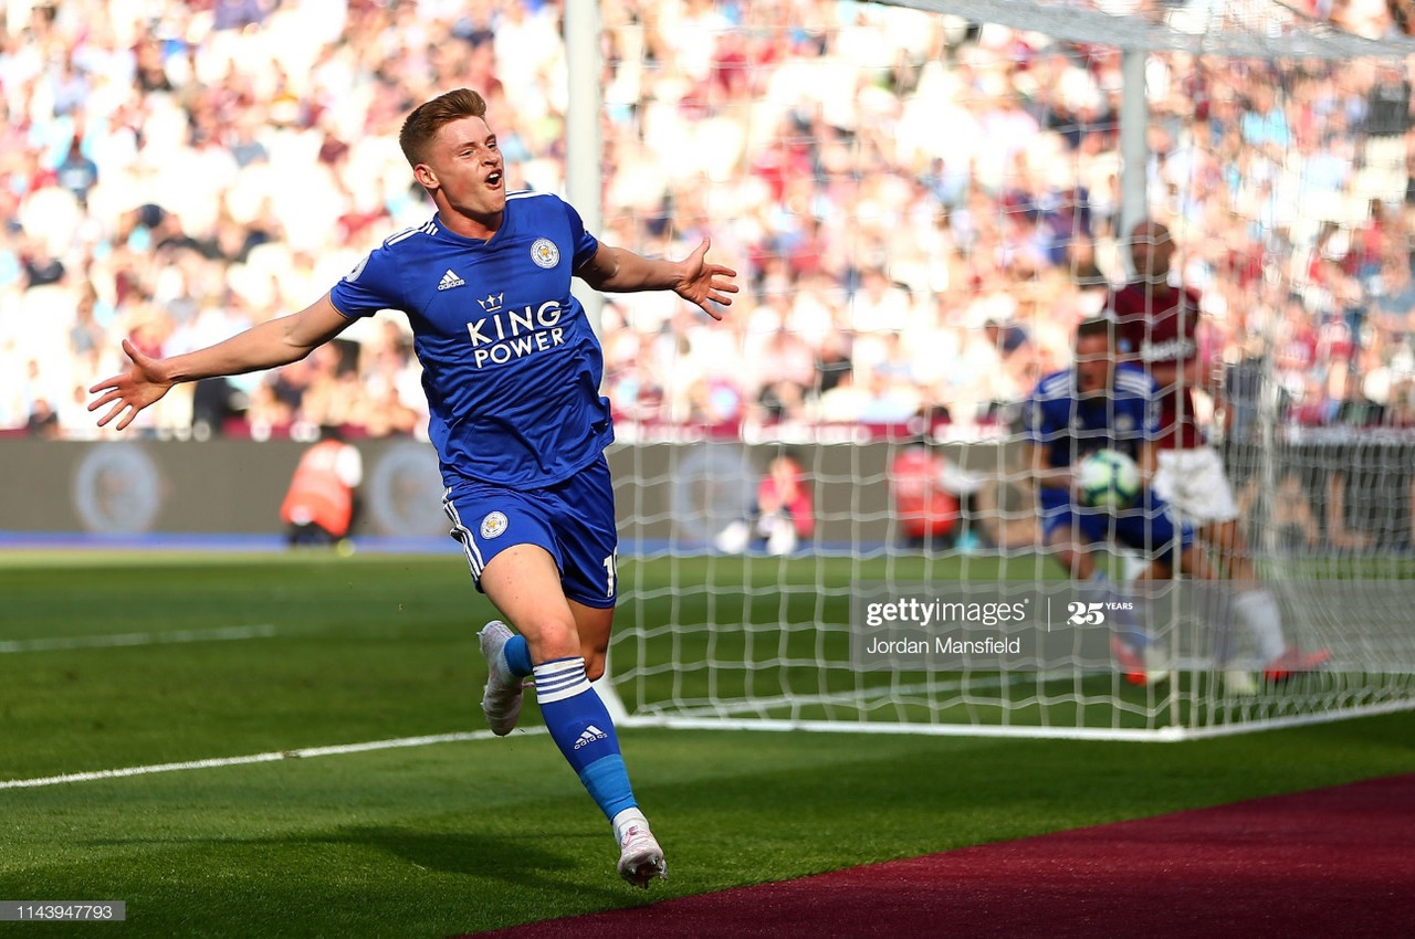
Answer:
[[501, 552], [539, 544], [555, 559], [570, 600], [606, 610], [618, 593], [614, 485], [601, 454], [563, 482], [542, 489], [464, 481], [447, 489], [443, 508], [451, 536], [481, 590], [481, 571]]

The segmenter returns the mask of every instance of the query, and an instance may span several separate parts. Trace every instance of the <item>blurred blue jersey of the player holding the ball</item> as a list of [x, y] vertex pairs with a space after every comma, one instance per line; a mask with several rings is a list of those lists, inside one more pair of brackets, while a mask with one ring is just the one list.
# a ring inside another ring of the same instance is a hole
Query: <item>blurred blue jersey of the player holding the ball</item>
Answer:
[[1145, 369], [1116, 365], [1105, 395], [1082, 397], [1075, 379], [1073, 369], [1047, 375], [1022, 409], [1023, 437], [1043, 448], [1047, 467], [1102, 448], [1138, 457], [1140, 443], [1159, 434], [1159, 389]]

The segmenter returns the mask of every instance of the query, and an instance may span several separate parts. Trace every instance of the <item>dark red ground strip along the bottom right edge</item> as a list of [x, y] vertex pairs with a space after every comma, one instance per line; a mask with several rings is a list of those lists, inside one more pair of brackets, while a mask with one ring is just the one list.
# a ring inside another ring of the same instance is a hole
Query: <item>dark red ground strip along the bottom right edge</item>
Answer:
[[491, 935], [1415, 936], [1415, 775]]

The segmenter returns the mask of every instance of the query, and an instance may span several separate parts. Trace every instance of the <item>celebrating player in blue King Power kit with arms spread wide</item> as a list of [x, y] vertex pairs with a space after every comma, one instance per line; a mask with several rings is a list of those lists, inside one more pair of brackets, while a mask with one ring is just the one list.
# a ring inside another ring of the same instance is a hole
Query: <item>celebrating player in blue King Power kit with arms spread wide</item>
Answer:
[[480, 632], [490, 679], [483, 710], [509, 734], [522, 682], [535, 676], [550, 737], [608, 817], [618, 873], [637, 887], [665, 877], [664, 851], [638, 809], [614, 724], [590, 682], [604, 672], [616, 601], [614, 494], [604, 447], [614, 434], [600, 396], [604, 359], [572, 276], [596, 290], [672, 290], [713, 320], [736, 272], [611, 247], [543, 192], [507, 192], [487, 103], [474, 91], [408, 116], [399, 144], [436, 214], [391, 236], [299, 313], [187, 355], [132, 363], [91, 389], [99, 426], [123, 428], [177, 382], [286, 365], [358, 317], [403, 311], [423, 366], [429, 436], [444, 508], [477, 588], [516, 632]]

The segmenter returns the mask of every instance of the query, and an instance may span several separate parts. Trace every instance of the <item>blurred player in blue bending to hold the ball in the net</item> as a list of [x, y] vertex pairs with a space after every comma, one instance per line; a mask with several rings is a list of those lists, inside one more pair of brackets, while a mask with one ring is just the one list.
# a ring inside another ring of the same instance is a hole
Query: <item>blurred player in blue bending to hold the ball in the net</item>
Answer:
[[[1074, 365], [1037, 382], [1023, 406], [1022, 428], [1039, 488], [1043, 544], [1075, 580], [1090, 581], [1102, 594], [1109, 594], [1108, 577], [1095, 564], [1094, 550], [1108, 543], [1146, 559], [1142, 578], [1169, 578], [1177, 563], [1180, 571], [1211, 580], [1213, 568], [1196, 547], [1193, 529], [1174, 520], [1152, 486], [1142, 488], [1135, 508], [1119, 512], [1088, 508], [1077, 499], [1074, 468], [1097, 450], [1128, 454], [1145, 479], [1155, 471], [1159, 392], [1145, 369], [1115, 363], [1114, 337], [1109, 320], [1081, 322]], [[1126, 677], [1135, 684], [1166, 677], [1167, 670], [1145, 665], [1148, 643], [1139, 622], [1119, 625], [1119, 645], [1112, 648]]]

